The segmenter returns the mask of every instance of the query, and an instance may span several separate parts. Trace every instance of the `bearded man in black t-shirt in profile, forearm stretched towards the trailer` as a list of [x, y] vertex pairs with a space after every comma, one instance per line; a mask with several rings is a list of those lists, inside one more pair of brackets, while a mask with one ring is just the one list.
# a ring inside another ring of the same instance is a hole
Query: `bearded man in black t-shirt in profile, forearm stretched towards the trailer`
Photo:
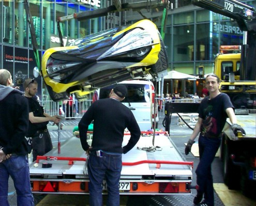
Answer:
[[52, 150], [52, 140], [47, 129], [49, 121], [58, 124], [61, 119], [57, 115], [50, 116], [45, 113], [43, 107], [34, 98], [37, 93], [37, 82], [35, 79], [26, 79], [23, 83], [24, 96], [29, 105], [29, 128], [27, 136], [32, 138], [33, 162], [37, 156], [43, 156]]

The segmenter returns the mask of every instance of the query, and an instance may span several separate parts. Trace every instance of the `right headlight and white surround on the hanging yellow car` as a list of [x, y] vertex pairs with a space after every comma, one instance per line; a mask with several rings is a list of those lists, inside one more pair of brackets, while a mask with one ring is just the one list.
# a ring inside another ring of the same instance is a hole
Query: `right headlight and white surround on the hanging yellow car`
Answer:
[[150, 33], [141, 28], [135, 28], [116, 42], [107, 52], [103, 53], [98, 60], [118, 56], [131, 51], [134, 52], [134, 50], [136, 50], [136, 52], [133, 53], [132, 56], [140, 57], [148, 51], [148, 46], [152, 45], [154, 45], [154, 42]]

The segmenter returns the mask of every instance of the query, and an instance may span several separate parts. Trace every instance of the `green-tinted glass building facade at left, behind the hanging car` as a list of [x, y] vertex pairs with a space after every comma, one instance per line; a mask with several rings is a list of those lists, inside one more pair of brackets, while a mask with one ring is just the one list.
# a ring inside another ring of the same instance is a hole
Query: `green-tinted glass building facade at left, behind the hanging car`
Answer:
[[[103, 0], [29, 1], [28, 5], [35, 27], [39, 56], [41, 57], [43, 52], [50, 47], [60, 46], [57, 30], [59, 17], [104, 8], [109, 4], [111, 4], [110, 1]], [[59, 27], [62, 31], [64, 45], [68, 45], [74, 39], [119, 25], [118, 14], [109, 14], [109, 18], [103, 16], [83, 21], [72, 19], [61, 22]], [[23, 1], [1, 1], [0, 22], [0, 68], [6, 68], [10, 71], [14, 84], [23, 90], [20, 80], [33, 78], [33, 68], [37, 65]], [[38, 96], [40, 99], [46, 100], [44, 96], [47, 97], [48, 95], [47, 91], [44, 90], [41, 77], [39, 76], [36, 80], [39, 83]]]

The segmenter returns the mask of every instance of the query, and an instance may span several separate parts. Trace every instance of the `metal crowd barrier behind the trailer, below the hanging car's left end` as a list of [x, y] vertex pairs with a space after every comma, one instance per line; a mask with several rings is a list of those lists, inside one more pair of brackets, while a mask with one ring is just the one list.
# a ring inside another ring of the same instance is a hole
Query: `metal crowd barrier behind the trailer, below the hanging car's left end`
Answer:
[[53, 116], [61, 115], [66, 119], [69, 118], [81, 118], [87, 111], [89, 106], [92, 105], [93, 100], [77, 101], [77, 100], [65, 100], [61, 102], [54, 102], [52, 100], [39, 101], [39, 104], [43, 107], [44, 112]]

